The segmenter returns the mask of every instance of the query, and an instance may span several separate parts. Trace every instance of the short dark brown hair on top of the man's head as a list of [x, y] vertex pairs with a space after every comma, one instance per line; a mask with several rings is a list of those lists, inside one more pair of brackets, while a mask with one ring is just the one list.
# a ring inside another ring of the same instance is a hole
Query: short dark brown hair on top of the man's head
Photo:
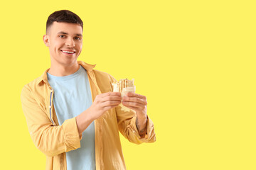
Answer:
[[46, 22], [46, 33], [54, 21], [58, 23], [78, 23], [83, 30], [83, 23], [81, 18], [77, 14], [68, 10], [55, 11], [54, 13], [50, 14]]

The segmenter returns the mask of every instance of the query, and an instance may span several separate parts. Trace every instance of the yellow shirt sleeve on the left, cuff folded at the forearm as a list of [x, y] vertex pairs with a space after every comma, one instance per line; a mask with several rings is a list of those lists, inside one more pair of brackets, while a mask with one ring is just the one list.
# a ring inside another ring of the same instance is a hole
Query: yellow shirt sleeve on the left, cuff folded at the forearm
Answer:
[[48, 157], [80, 147], [82, 136], [79, 135], [75, 118], [65, 120], [63, 125], [53, 126], [28, 86], [21, 91], [21, 105], [34, 145]]

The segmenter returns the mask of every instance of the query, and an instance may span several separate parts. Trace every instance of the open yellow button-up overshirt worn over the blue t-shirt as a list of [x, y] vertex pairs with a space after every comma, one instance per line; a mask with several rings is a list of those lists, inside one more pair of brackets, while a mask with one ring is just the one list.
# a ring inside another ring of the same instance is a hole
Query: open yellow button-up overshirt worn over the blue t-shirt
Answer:
[[[112, 91], [114, 77], [93, 69], [95, 65], [78, 61], [87, 70], [92, 101], [98, 94]], [[53, 106], [54, 91], [47, 79], [47, 69], [41, 77], [26, 84], [21, 91], [21, 103], [28, 131], [36, 147], [46, 154], [47, 170], [66, 170], [65, 152], [78, 149], [82, 136], [78, 133], [75, 118], [58, 124]], [[154, 124], [148, 117], [144, 138], [136, 128], [136, 113], [119, 105], [95, 120], [95, 164], [96, 169], [126, 169], [122, 154], [119, 131], [130, 142], [154, 142]]]

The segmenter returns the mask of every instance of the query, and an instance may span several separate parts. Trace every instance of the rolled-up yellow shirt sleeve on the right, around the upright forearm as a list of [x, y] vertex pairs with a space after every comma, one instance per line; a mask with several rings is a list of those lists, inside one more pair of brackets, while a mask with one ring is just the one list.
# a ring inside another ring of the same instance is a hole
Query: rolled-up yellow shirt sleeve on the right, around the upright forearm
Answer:
[[[117, 80], [111, 76], [111, 83], [116, 82]], [[141, 144], [143, 142], [155, 142], [156, 134], [154, 132], [154, 123], [147, 115], [146, 120], [146, 135], [142, 138], [139, 135], [139, 131], [136, 126], [137, 115], [134, 111], [129, 108], [124, 107], [122, 104], [115, 108], [117, 115], [117, 124], [119, 131], [122, 135], [135, 144]]]

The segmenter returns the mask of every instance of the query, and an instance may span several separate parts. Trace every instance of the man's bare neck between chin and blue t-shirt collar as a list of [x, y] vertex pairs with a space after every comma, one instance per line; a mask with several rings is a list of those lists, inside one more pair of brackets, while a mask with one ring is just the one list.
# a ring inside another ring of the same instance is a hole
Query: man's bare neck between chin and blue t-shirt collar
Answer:
[[51, 64], [48, 73], [56, 77], [64, 77], [77, 72], [79, 68], [80, 65], [78, 62], [68, 66], [63, 66], [61, 64]]

